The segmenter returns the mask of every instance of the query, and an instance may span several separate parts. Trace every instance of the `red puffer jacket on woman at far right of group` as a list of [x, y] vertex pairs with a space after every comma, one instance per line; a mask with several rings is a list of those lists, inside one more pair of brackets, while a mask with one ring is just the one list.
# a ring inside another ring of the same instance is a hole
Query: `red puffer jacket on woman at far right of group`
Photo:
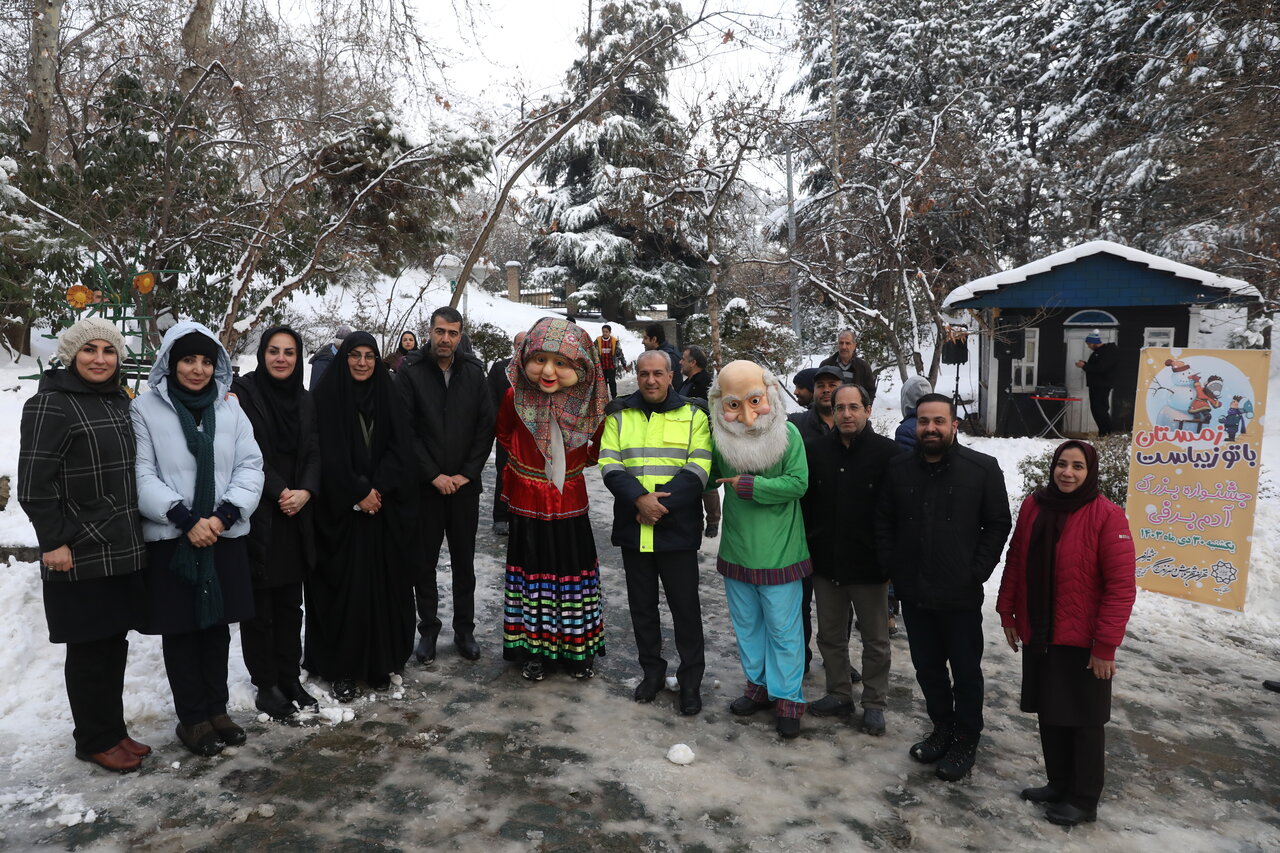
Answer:
[[[996, 599], [1000, 624], [1016, 626], [1024, 643], [1032, 634], [1027, 612], [1027, 548], [1037, 515], [1039, 505], [1028, 496], [1018, 514]], [[1057, 540], [1050, 642], [1088, 648], [1094, 657], [1114, 661], [1138, 594], [1135, 562], [1124, 510], [1098, 496], [1073, 512]]]

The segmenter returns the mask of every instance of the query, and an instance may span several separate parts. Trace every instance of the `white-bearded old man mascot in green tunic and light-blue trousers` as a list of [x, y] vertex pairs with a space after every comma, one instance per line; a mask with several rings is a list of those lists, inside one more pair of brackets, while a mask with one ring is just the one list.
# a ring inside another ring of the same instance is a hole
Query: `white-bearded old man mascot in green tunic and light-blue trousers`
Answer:
[[813, 571], [800, 514], [809, 487], [804, 441], [787, 423], [778, 380], [760, 365], [726, 365], [708, 402], [712, 476], [726, 485], [716, 570], [724, 575], [746, 675], [746, 690], [730, 711], [773, 708], [778, 734], [795, 738], [805, 708], [801, 580]]

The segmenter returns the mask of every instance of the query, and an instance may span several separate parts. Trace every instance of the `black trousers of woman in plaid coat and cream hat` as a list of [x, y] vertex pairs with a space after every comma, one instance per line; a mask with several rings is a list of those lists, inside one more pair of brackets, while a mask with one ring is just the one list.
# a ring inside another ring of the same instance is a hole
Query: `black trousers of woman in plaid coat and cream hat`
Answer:
[[67, 644], [67, 699], [76, 729], [77, 752], [106, 752], [120, 743], [124, 727], [124, 661], [129, 656], [128, 634]]

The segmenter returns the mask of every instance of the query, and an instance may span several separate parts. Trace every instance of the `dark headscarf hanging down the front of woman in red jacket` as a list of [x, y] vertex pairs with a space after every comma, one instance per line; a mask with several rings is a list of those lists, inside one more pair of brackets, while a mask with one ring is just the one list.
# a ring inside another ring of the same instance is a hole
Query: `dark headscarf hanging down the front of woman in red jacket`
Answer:
[[[1062, 451], [1070, 447], [1084, 453], [1088, 474], [1074, 492], [1062, 492], [1053, 480], [1053, 471]], [[1032, 651], [1043, 652], [1053, 638], [1053, 576], [1062, 528], [1073, 512], [1098, 494], [1098, 452], [1092, 444], [1075, 439], [1059, 444], [1053, 451], [1053, 461], [1050, 462], [1048, 485], [1033, 494], [1039, 514], [1032, 525], [1032, 539], [1027, 546], [1027, 610], [1032, 624], [1028, 646]]]

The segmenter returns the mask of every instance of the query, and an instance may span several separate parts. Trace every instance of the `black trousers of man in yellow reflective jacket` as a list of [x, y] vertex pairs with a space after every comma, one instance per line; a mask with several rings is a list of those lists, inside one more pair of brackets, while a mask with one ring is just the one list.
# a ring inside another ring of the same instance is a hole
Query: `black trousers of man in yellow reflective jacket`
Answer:
[[667, 608], [676, 629], [680, 667], [676, 680], [682, 688], [696, 688], [707, 669], [703, 644], [703, 606], [698, 598], [698, 552], [663, 551], [641, 553], [622, 549], [627, 575], [627, 608], [636, 635], [636, 651], [645, 678], [664, 678], [667, 660], [662, 656], [662, 620], [658, 616], [658, 581], [667, 594]]

